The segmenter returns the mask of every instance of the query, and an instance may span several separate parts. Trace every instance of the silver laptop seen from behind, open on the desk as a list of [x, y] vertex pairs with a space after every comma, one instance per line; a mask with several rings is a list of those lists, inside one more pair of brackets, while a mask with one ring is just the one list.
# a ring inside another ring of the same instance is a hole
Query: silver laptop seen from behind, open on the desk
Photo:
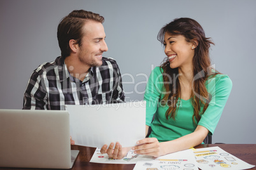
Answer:
[[70, 169], [69, 114], [62, 110], [0, 109], [0, 167]]

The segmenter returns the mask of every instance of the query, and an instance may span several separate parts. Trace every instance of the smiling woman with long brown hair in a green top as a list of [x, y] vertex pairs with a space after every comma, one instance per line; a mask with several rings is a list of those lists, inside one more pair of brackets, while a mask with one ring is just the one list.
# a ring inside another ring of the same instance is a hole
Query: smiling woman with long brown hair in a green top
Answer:
[[[132, 147], [135, 154], [153, 157], [203, 143], [215, 131], [232, 88], [231, 79], [211, 67], [213, 42], [196, 20], [175, 19], [162, 27], [158, 39], [167, 58], [152, 71], [144, 96], [146, 133], [149, 127], [152, 132]], [[127, 148], [113, 144], [108, 150], [104, 145], [102, 153], [122, 158]]]

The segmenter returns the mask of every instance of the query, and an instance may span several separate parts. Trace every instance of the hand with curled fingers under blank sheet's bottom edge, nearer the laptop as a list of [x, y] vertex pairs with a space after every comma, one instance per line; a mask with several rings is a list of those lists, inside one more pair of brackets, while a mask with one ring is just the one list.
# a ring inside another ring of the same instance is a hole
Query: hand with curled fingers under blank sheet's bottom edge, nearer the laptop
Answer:
[[122, 148], [119, 142], [116, 144], [112, 142], [110, 143], [110, 147], [108, 147], [108, 145], [103, 145], [101, 148], [101, 154], [108, 154], [108, 157], [113, 159], [122, 159], [128, 151], [127, 148]]

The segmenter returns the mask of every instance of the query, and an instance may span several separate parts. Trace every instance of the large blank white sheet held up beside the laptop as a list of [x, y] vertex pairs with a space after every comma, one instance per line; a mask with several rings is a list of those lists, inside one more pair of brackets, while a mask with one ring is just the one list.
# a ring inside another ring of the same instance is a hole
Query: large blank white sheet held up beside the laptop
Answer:
[[145, 138], [146, 101], [104, 105], [66, 105], [76, 145], [103, 147], [120, 142], [132, 147]]

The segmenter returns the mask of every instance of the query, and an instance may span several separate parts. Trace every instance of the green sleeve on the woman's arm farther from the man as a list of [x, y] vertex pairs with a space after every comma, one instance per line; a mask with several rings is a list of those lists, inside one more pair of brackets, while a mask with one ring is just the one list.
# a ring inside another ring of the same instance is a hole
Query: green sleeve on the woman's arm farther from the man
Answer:
[[211, 94], [211, 101], [201, 116], [198, 125], [207, 128], [209, 134], [212, 135], [231, 93], [232, 81], [227, 75], [217, 74], [215, 77], [208, 79], [206, 88], [208, 89], [208, 93]]

